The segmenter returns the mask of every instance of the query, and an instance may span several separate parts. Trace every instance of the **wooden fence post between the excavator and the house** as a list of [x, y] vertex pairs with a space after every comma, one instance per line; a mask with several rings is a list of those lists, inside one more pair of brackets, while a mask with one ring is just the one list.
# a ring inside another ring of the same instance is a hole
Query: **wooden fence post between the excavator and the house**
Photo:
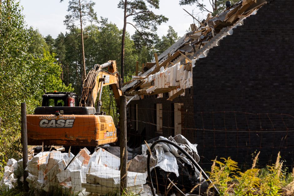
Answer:
[[127, 188], [127, 97], [120, 96], [119, 138], [120, 138], [120, 193]]

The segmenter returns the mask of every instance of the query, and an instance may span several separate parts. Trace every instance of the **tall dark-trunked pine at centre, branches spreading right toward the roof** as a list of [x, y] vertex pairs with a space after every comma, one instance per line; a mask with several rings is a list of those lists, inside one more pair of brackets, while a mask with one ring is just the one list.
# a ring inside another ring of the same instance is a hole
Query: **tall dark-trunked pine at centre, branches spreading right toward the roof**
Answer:
[[[118, 8], [124, 10], [124, 28], [121, 40], [121, 77], [124, 81], [124, 44], [127, 24], [132, 25], [146, 42], [149, 42], [156, 35], [154, 32], [157, 26], [168, 21], [163, 15], [156, 15], [152, 8], [159, 9], [159, 0], [120, 0]], [[133, 23], [127, 22], [132, 17]]]

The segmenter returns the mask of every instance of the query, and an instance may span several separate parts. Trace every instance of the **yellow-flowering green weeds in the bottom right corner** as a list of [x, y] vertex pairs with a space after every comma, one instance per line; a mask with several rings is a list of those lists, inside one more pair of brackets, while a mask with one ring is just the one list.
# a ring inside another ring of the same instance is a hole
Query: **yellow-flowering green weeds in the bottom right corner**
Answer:
[[258, 154], [254, 158], [252, 168], [244, 172], [237, 171], [237, 163], [231, 158], [222, 158], [223, 161], [214, 160], [210, 172], [213, 183], [210, 184], [207, 193], [215, 185], [220, 195], [229, 195], [230, 190], [234, 195], [282, 195], [285, 194], [282, 192], [285, 190], [287, 195], [292, 195], [294, 170], [293, 173], [288, 173], [288, 168], [282, 167], [284, 161], [280, 161], [280, 153], [275, 164], [261, 169], [254, 168]]

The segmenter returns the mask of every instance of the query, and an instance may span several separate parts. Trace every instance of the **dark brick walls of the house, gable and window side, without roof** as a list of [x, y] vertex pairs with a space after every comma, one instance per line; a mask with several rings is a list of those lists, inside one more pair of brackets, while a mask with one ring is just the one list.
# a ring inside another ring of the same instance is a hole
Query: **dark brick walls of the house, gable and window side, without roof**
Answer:
[[154, 104], [163, 104], [163, 136], [173, 136], [173, 103], [184, 103], [182, 132], [198, 144], [203, 167], [216, 156], [251, 164], [255, 150], [260, 164], [281, 151], [293, 165], [294, 118], [280, 115], [294, 115], [293, 79], [294, 2], [274, 0], [196, 62], [190, 94], [173, 102], [145, 97], [128, 107], [138, 104], [139, 132], [146, 129], [149, 139], [158, 136]]

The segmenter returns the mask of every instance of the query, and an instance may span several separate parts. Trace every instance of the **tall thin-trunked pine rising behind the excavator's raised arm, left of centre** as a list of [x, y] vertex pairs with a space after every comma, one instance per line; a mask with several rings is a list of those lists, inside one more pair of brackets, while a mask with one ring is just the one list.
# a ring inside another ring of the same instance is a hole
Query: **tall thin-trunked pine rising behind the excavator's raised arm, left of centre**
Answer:
[[[60, 0], [63, 2], [63, 0]], [[68, 29], [75, 27], [75, 22], [79, 21], [81, 29], [81, 45], [82, 45], [82, 56], [83, 56], [83, 79], [86, 78], [86, 63], [85, 63], [85, 52], [84, 52], [84, 36], [83, 36], [83, 25], [89, 22], [98, 22], [97, 14], [94, 12], [93, 6], [95, 3], [92, 0], [70, 0], [68, 2], [68, 15], [65, 16], [64, 24]]]

